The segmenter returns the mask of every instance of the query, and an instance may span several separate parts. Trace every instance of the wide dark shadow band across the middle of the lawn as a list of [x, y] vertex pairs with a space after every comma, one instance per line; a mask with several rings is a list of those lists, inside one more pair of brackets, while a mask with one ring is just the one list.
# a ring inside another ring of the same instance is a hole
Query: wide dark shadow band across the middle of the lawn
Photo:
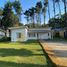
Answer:
[[43, 56], [44, 54], [33, 54], [31, 50], [27, 49], [12, 49], [12, 48], [0, 48], [0, 56], [22, 56], [22, 57], [28, 57], [28, 56]]

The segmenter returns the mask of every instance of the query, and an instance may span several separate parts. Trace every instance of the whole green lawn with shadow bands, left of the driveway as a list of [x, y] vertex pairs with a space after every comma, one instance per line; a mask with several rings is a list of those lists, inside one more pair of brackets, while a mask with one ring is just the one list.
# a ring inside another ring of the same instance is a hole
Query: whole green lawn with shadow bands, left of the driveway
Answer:
[[52, 67], [37, 41], [0, 43], [0, 67]]

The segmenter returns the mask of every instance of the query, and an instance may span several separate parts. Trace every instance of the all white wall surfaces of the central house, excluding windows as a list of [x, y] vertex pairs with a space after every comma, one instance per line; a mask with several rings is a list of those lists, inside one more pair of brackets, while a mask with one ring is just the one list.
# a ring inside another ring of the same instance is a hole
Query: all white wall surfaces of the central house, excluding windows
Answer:
[[[49, 30], [49, 31], [47, 33], [44, 33], [44, 32], [38, 33], [39, 39], [51, 39], [51, 32], [50, 32], [51, 29], [50, 28], [41, 29], [41, 30]], [[17, 33], [23, 33], [24, 39], [22, 38], [21, 41], [27, 41], [29, 39], [34, 39], [34, 40], [38, 39], [37, 33], [35, 33], [35, 37], [33, 37], [33, 36], [29, 37], [28, 33], [30, 33], [30, 32], [27, 29], [19, 28], [19, 29], [12, 29], [11, 30], [11, 41], [18, 41]], [[48, 33], [49, 33], [49, 35], [48, 35]]]

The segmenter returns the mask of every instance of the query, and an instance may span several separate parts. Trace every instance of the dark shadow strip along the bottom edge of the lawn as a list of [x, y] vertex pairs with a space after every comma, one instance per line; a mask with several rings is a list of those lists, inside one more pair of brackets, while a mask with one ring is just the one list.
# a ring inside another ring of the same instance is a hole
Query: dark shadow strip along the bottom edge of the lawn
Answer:
[[48, 67], [48, 66], [45, 64], [41, 65], [0, 61], [0, 67]]

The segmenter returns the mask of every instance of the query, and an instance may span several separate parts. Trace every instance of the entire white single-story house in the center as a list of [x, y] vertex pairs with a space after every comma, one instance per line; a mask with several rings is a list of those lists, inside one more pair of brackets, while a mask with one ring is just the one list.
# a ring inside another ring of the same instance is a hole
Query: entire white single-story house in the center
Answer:
[[11, 41], [27, 41], [37, 39], [52, 39], [51, 28], [27, 28], [27, 27], [11, 27]]

